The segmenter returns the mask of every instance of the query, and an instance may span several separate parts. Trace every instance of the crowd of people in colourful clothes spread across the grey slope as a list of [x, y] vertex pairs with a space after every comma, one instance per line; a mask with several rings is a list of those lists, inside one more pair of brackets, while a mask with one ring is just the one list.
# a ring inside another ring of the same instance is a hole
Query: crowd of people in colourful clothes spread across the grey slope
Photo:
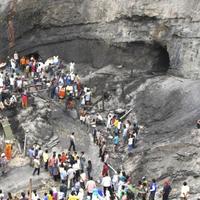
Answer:
[[[91, 105], [91, 89], [81, 84], [80, 77], [75, 73], [75, 63], [69, 64], [68, 70], [57, 56], [48, 62], [42, 63], [34, 56], [19, 57], [15, 52], [13, 58], [7, 61], [6, 69], [0, 74], [0, 108], [15, 106], [18, 103], [17, 96], [21, 97], [22, 108], [28, 106], [29, 84], [44, 84], [47, 87], [51, 99], [66, 99], [66, 107], [74, 108], [75, 99], [79, 100], [80, 121], [88, 127], [92, 134], [94, 143], [99, 146], [99, 158], [103, 163], [100, 179], [95, 180], [95, 163], [86, 160], [84, 152], [78, 152], [76, 147], [76, 133], [70, 135], [70, 146], [68, 151], [50, 153], [47, 149], [33, 145], [28, 150], [30, 165], [33, 167], [33, 176], [40, 175], [41, 168], [44, 168], [55, 182], [60, 182], [59, 190], [54, 187], [42, 196], [33, 190], [32, 193], [21, 193], [21, 197], [12, 197], [11, 193], [4, 194], [0, 190], [0, 200], [154, 200], [158, 191], [158, 184], [155, 179], [148, 181], [142, 177], [137, 184], [134, 184], [131, 175], [127, 175], [122, 169], [111, 173], [109, 154], [107, 148], [108, 138], [113, 139], [114, 153], [118, 152], [120, 142], [127, 145], [128, 153], [131, 154], [135, 148], [139, 126], [129, 120], [123, 121], [118, 114], [110, 112], [104, 120], [99, 114], [91, 114], [87, 106]], [[5, 155], [1, 155], [1, 164]], [[169, 199], [172, 187], [169, 181], [165, 181], [161, 197]], [[187, 200], [189, 187], [184, 182], [181, 189], [181, 199]]]

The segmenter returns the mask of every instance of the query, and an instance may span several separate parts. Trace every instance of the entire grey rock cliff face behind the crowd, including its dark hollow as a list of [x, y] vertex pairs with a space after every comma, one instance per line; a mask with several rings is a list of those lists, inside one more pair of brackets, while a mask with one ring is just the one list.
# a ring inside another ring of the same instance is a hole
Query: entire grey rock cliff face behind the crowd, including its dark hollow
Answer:
[[[170, 62], [173, 73], [199, 76], [198, 0], [17, 2], [14, 49], [21, 53], [38, 51], [43, 57], [59, 54], [93, 66], [114, 63], [153, 71], [167, 71]], [[8, 50], [9, 9], [3, 10], [1, 55]]]

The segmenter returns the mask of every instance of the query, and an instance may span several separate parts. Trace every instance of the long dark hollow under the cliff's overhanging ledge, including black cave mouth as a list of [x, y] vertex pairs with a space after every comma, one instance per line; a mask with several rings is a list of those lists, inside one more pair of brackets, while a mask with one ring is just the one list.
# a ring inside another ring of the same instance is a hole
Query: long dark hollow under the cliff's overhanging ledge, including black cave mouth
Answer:
[[28, 57], [34, 56], [43, 61], [52, 55], [59, 55], [66, 62], [90, 64], [93, 68], [122, 65], [128, 71], [166, 73], [170, 66], [167, 48], [158, 42], [108, 44], [102, 39], [79, 38], [40, 46], [32, 52], [27, 52]]

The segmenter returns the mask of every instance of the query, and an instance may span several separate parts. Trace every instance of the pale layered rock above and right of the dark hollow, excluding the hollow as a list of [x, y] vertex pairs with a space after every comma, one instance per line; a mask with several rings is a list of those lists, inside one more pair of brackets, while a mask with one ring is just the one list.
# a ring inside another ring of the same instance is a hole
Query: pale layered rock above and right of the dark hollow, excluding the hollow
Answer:
[[[103, 40], [108, 46], [157, 42], [169, 53], [171, 72], [198, 78], [199, 6], [198, 0], [18, 0], [15, 49], [31, 52], [31, 46], [77, 39]], [[1, 54], [7, 50], [7, 14], [4, 10], [1, 16]]]

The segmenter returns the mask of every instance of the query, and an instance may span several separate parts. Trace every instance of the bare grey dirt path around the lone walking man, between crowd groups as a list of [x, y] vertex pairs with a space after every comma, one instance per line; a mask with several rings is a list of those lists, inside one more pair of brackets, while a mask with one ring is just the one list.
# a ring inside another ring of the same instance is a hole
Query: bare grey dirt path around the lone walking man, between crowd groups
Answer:
[[103, 164], [98, 157], [99, 148], [93, 143], [92, 136], [87, 132], [86, 125], [81, 124], [79, 120], [75, 120], [70, 117], [73, 114], [69, 112], [72, 111], [66, 111], [64, 106], [60, 106], [59, 103], [56, 103], [56, 107], [54, 107], [54, 109], [52, 117], [55, 118], [55, 126], [59, 127], [57, 135], [59, 135], [60, 139], [60, 143], [54, 149], [56, 151], [67, 151], [69, 148], [69, 136], [72, 132], [74, 132], [76, 138], [76, 150], [78, 153], [84, 151], [86, 160], [92, 161], [92, 175], [95, 180], [98, 180]]

